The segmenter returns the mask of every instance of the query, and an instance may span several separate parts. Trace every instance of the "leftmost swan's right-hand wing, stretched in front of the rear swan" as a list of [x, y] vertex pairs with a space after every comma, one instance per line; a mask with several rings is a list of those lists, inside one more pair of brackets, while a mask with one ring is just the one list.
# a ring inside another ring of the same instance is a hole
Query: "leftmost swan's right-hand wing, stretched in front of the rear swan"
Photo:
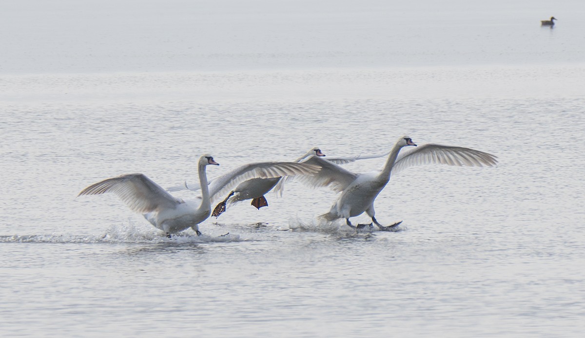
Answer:
[[259, 162], [242, 165], [227, 174], [216, 177], [209, 184], [209, 199], [215, 199], [228, 194], [238, 184], [253, 178], [276, 178], [300, 175], [305, 177], [318, 173], [321, 167], [313, 163], [295, 162]]

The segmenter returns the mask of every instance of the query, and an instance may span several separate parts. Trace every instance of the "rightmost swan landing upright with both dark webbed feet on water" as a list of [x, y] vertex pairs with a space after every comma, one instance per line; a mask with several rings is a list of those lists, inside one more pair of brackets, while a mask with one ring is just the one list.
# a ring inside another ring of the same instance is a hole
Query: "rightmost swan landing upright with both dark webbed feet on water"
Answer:
[[[412, 142], [412, 139], [408, 136], [401, 137], [390, 151], [390, 156], [388, 156], [384, 168], [379, 173], [371, 174], [352, 173], [319, 157], [311, 157], [305, 163], [318, 164], [322, 168], [318, 174], [311, 177], [301, 177], [300, 181], [315, 188], [329, 187], [333, 191], [341, 193], [331, 206], [331, 210], [321, 215], [321, 218], [329, 221], [345, 218], [347, 225], [356, 228], [349, 221], [349, 218], [366, 212], [380, 230], [391, 230], [401, 222], [394, 223], [391, 226], [383, 226], [378, 223], [375, 217], [374, 200], [380, 194], [380, 191], [386, 187], [392, 172], [402, 170], [411, 165], [425, 163], [477, 167], [483, 167], [484, 165], [491, 167], [497, 163], [495, 156], [483, 151], [463, 147], [441, 146], [439, 144], [425, 144], [409, 151], [397, 160], [398, 153], [406, 146], [417, 146], [417, 144]], [[275, 189], [282, 191], [283, 184], [284, 180], [280, 181]]]

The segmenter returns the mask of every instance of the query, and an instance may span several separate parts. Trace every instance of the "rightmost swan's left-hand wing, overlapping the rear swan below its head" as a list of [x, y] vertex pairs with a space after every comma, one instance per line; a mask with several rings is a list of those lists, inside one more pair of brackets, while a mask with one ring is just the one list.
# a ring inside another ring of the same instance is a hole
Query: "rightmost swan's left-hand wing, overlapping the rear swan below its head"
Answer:
[[[295, 180], [300, 181], [311, 188], [328, 187], [335, 192], [340, 192], [347, 188], [357, 178], [357, 174], [345, 170], [331, 161], [324, 160], [322, 157], [311, 156], [307, 161], [302, 163], [321, 166], [321, 170], [315, 175], [295, 177]], [[274, 192], [282, 196], [285, 182], [291, 179], [292, 178], [289, 177], [281, 178], [276, 184], [276, 187], [274, 187]]]

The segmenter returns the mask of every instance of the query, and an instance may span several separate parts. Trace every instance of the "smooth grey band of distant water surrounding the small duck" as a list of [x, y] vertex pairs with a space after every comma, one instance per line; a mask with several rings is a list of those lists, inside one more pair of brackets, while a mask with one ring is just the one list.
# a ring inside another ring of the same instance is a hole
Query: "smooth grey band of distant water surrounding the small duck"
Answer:
[[4, 0], [0, 71], [573, 63], [584, 17], [579, 0]]

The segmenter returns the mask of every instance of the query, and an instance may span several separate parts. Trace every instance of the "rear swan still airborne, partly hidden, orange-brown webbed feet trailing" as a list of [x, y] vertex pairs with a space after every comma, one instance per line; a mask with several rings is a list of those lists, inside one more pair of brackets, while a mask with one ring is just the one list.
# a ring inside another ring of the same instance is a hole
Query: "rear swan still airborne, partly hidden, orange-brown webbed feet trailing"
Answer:
[[[383, 157], [383, 156], [386, 156], [387, 154], [388, 153], [378, 154], [378, 155], [369, 155], [369, 156], [359, 155], [359, 156], [350, 156], [350, 157], [333, 157], [333, 158], [328, 157], [328, 158], [326, 158], [326, 160], [331, 161], [331, 162], [336, 163], [336, 164], [346, 164], [346, 163], [350, 163], [350, 162], [353, 162], [356, 160], [362, 160], [365, 158]], [[319, 147], [313, 147], [309, 151], [307, 151], [307, 153], [305, 153], [301, 157], [297, 158], [295, 160], [295, 162], [298, 163], [302, 160], [305, 160], [309, 156], [324, 157], [325, 154], [322, 153], [322, 151], [321, 151], [321, 149], [319, 149]], [[222, 180], [222, 177], [218, 177], [215, 180]], [[211, 185], [214, 184], [215, 180], [211, 181]], [[253, 178], [252, 180], [248, 180], [248, 181], [240, 183], [238, 185], [238, 187], [233, 189], [233, 191], [231, 191], [223, 201], [219, 202], [218, 205], [215, 206], [215, 209], [211, 215], [215, 216], [217, 218], [217, 217], [219, 217], [219, 215], [221, 215], [223, 212], [225, 212], [227, 205], [232, 205], [232, 204], [235, 204], [237, 202], [245, 201], [246, 199], [252, 199], [252, 202], [250, 204], [253, 205], [254, 207], [256, 207], [256, 209], [260, 209], [263, 206], [268, 206], [268, 202], [266, 201], [266, 197], [264, 195], [266, 195], [272, 188], [274, 188], [274, 186], [280, 180], [281, 180], [281, 177]], [[185, 182], [183, 185], [170, 187], [167, 190], [168, 191], [178, 191], [178, 190], [182, 190], [182, 189], [197, 191], [198, 189], [201, 189], [201, 186], [194, 185], [194, 184], [188, 185], [187, 182]]]

